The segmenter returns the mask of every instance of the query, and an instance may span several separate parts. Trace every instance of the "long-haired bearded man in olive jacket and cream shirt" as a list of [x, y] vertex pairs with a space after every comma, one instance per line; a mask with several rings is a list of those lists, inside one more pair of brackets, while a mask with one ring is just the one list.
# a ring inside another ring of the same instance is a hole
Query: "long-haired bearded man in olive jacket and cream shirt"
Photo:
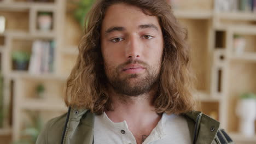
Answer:
[[193, 111], [187, 33], [164, 0], [99, 0], [67, 81], [68, 113], [37, 143], [232, 143]]

